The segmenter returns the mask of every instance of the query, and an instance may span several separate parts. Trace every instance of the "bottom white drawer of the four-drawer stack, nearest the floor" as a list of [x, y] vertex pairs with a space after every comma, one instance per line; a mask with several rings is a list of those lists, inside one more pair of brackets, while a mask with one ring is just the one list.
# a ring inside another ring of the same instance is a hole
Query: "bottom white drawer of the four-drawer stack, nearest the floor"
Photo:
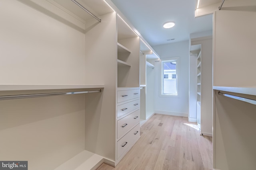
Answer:
[[140, 138], [140, 123], [117, 142], [117, 159], [121, 158]]

